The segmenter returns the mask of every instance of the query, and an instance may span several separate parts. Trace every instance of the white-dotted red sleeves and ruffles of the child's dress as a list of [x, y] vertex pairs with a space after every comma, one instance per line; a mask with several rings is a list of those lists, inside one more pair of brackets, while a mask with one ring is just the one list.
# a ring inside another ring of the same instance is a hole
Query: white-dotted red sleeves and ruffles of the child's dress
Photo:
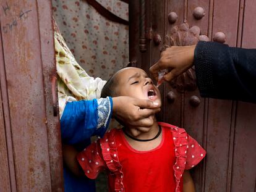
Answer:
[[[187, 135], [184, 129], [177, 128], [176, 130], [173, 128], [172, 130], [174, 151], [176, 154], [176, 162], [174, 163], [175, 165], [173, 166], [173, 169], [176, 183], [179, 183], [184, 170], [191, 169], [197, 165], [198, 162], [202, 161], [206, 152], [199, 146], [197, 141]], [[103, 168], [109, 169], [110, 172], [115, 174], [115, 183], [118, 183], [118, 185], [115, 185], [118, 186], [116, 191], [123, 191], [122, 166], [119, 162], [116, 143], [113, 136], [114, 131], [116, 130], [114, 129], [110, 133], [106, 133], [103, 139], [97, 141], [96, 144], [92, 144], [93, 147], [90, 146], [87, 151], [81, 152], [77, 159], [80, 160], [79, 162], [83, 170], [88, 174], [88, 177], [90, 176], [90, 178], [94, 178]], [[95, 152], [92, 153], [91, 151]], [[97, 152], [99, 152], [99, 154], [96, 155]], [[90, 158], [93, 163], [90, 164], [88, 161], [81, 161], [82, 158]], [[178, 186], [178, 184], [176, 184], [176, 186]]]

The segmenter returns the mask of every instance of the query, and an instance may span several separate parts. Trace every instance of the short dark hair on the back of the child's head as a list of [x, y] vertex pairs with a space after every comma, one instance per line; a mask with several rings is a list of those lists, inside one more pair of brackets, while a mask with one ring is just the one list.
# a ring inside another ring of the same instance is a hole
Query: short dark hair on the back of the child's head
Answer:
[[117, 81], [116, 81], [116, 75], [112, 75], [111, 78], [106, 82], [106, 84], [103, 86], [101, 90], [101, 98], [106, 98], [106, 97], [114, 97], [116, 96], [116, 86], [117, 86]]

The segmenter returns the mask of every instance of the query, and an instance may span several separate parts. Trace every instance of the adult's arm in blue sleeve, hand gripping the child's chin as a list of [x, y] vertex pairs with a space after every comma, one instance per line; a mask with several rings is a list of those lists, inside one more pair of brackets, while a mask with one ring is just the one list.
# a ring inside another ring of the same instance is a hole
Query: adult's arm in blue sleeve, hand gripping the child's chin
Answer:
[[130, 125], [150, 127], [150, 115], [160, 111], [157, 103], [126, 96], [92, 101], [67, 102], [61, 117], [61, 137], [66, 144], [77, 144], [92, 135], [102, 137], [113, 116]]

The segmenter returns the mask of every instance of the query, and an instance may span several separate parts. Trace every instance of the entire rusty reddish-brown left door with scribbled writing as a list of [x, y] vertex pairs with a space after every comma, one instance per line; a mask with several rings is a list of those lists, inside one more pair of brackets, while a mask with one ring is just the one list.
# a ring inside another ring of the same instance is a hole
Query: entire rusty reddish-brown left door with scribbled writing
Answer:
[[51, 1], [1, 0], [0, 25], [0, 191], [62, 191]]

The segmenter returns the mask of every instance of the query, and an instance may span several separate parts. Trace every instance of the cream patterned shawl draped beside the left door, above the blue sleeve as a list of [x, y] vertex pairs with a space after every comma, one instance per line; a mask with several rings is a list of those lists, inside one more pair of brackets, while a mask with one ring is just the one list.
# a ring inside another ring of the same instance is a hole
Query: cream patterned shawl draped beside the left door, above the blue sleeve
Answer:
[[59, 33], [56, 23], [54, 23], [54, 43], [58, 73], [59, 115], [61, 117], [68, 101], [100, 98], [106, 81], [90, 77], [80, 67]]

